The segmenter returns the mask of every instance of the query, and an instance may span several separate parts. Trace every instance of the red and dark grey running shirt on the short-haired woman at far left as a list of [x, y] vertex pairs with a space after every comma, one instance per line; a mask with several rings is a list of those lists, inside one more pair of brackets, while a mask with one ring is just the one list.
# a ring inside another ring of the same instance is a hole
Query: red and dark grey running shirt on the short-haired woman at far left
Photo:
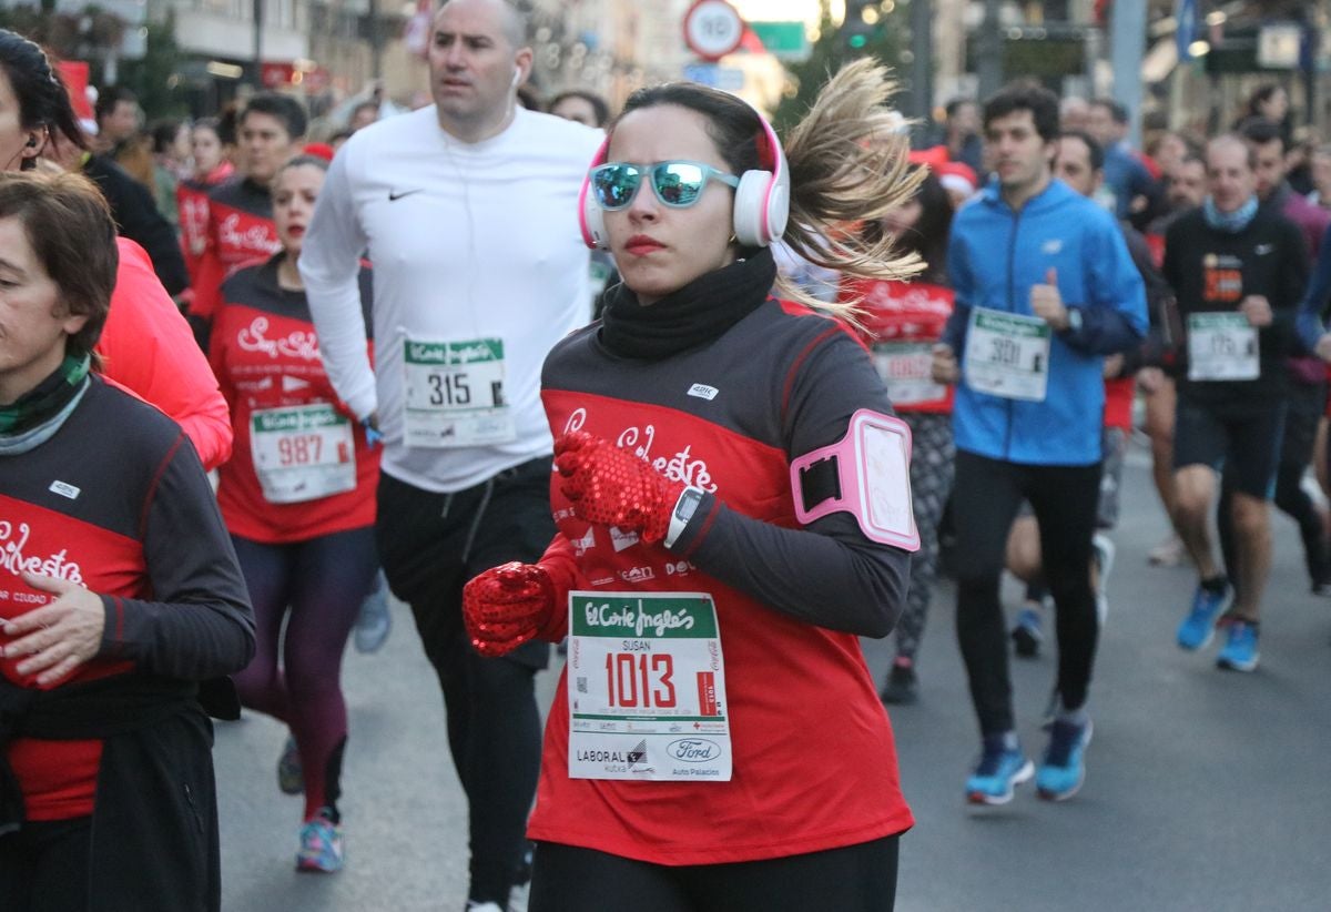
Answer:
[[[106, 612], [97, 656], [48, 690], [132, 668], [206, 680], [253, 654], [245, 580], [194, 447], [100, 377], [49, 441], [0, 455], [0, 618], [52, 600], [24, 571], [79, 583]], [[36, 687], [17, 672], [21, 658], [0, 660], [0, 674]], [[19, 738], [8, 755], [27, 819], [92, 812], [100, 740]]]

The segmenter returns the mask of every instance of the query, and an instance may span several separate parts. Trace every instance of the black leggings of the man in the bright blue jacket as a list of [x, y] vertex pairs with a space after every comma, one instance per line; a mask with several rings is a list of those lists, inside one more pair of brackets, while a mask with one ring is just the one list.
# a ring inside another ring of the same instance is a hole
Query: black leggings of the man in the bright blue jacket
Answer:
[[1008, 671], [1008, 627], [998, 586], [1008, 531], [1022, 499], [1040, 523], [1045, 580], [1057, 607], [1058, 695], [1065, 708], [1086, 702], [1099, 622], [1090, 587], [1091, 535], [1101, 466], [1028, 466], [957, 451], [952, 490], [957, 546], [957, 640], [970, 678], [980, 731], [1016, 728]]

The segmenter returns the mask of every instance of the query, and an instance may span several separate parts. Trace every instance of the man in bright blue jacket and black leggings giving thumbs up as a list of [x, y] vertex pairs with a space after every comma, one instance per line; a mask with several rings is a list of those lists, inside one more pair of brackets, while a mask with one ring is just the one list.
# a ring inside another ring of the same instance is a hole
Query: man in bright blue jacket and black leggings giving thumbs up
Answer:
[[1017, 742], [998, 599], [1008, 530], [1026, 499], [1058, 634], [1058, 707], [1037, 786], [1061, 800], [1081, 787], [1091, 732], [1102, 361], [1141, 342], [1146, 298], [1114, 217], [1053, 180], [1058, 97], [1010, 85], [985, 103], [984, 129], [997, 177], [953, 221], [957, 306], [933, 365], [940, 382], [957, 383], [957, 638], [984, 742], [966, 798], [1004, 804], [1034, 772]]

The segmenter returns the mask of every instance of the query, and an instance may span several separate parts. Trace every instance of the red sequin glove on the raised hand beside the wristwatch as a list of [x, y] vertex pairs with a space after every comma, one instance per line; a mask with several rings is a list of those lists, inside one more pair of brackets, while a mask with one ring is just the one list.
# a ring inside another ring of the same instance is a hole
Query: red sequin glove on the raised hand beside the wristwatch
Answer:
[[685, 487], [628, 450], [583, 431], [555, 441], [555, 467], [564, 478], [560, 490], [579, 519], [635, 531], [644, 542], [666, 538]]

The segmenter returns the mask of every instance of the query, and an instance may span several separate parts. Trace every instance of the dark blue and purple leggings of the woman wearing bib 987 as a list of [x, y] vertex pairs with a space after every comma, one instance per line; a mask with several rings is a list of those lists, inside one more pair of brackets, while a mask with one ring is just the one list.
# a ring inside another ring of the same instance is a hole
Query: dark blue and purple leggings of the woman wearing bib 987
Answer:
[[254, 606], [257, 639], [254, 660], [236, 675], [241, 703], [291, 730], [305, 770], [305, 817], [323, 807], [335, 816], [346, 744], [342, 652], [378, 571], [374, 527], [290, 545], [240, 535], [232, 542]]

